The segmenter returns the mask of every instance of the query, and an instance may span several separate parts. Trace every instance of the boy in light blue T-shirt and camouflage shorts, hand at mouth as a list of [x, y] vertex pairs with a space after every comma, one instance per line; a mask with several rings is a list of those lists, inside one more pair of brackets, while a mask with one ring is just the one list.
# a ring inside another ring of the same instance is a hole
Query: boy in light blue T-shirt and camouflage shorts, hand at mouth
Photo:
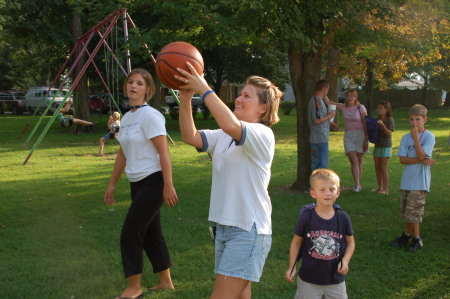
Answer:
[[402, 248], [412, 238], [411, 245], [406, 248], [410, 252], [423, 247], [419, 225], [422, 223], [425, 197], [430, 192], [431, 166], [435, 164], [431, 159], [435, 138], [425, 129], [427, 120], [427, 108], [419, 104], [412, 106], [409, 109], [411, 132], [402, 137], [398, 149], [400, 163], [405, 166], [400, 183], [400, 216], [406, 222], [406, 229], [390, 245]]

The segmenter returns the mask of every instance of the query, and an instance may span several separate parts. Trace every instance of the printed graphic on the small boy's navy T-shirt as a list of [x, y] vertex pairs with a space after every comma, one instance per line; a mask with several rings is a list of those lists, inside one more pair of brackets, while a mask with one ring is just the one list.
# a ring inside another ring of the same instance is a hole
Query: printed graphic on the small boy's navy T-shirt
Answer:
[[312, 242], [309, 255], [320, 260], [333, 260], [339, 257], [342, 235], [328, 230], [311, 231], [306, 235]]

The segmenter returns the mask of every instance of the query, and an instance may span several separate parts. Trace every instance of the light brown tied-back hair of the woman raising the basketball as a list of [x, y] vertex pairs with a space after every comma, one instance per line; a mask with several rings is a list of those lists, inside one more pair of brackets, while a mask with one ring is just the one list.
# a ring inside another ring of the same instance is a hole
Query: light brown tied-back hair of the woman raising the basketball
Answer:
[[261, 123], [268, 127], [280, 121], [278, 107], [283, 93], [272, 82], [259, 76], [250, 76], [247, 84], [257, 87], [258, 99], [261, 104], [266, 104], [266, 112], [261, 116]]

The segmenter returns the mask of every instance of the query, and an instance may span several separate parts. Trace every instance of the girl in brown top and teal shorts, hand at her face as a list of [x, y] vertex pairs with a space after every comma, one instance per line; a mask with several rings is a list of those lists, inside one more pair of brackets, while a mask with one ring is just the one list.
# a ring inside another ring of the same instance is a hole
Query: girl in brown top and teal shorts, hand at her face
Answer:
[[373, 150], [375, 174], [377, 176], [380, 194], [389, 194], [389, 158], [392, 156], [392, 132], [394, 131], [394, 118], [392, 117], [391, 104], [381, 101], [377, 105], [378, 111], [378, 140]]

